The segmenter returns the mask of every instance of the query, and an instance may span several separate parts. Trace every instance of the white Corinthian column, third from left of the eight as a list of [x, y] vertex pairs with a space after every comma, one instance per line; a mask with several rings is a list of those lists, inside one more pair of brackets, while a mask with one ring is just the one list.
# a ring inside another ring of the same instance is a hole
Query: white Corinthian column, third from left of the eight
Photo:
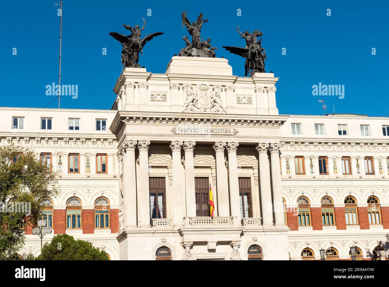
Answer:
[[182, 142], [173, 141], [170, 144], [172, 149], [172, 159], [173, 159], [173, 225], [175, 227], [181, 227], [184, 225], [184, 214], [185, 207], [182, 204], [182, 194], [183, 194], [183, 182], [181, 181], [180, 174], [180, 165], [181, 165], [181, 146]]

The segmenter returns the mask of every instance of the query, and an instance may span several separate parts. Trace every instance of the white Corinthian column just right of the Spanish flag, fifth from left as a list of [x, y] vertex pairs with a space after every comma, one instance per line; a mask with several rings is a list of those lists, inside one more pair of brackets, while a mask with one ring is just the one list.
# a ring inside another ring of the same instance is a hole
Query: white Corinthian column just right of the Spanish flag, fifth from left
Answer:
[[228, 177], [224, 164], [225, 142], [216, 142], [216, 186], [217, 186], [217, 212], [219, 216], [230, 216], [230, 202], [228, 200]]

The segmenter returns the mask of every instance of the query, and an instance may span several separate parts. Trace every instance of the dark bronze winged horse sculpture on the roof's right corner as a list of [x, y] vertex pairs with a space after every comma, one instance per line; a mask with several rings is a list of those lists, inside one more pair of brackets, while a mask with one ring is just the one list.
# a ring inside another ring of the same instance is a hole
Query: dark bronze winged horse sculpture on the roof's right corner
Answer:
[[223, 46], [223, 48], [230, 51], [230, 53], [245, 58], [245, 76], [247, 76], [248, 72], [250, 72], [250, 76], [254, 73], [265, 73], [266, 52], [261, 46], [262, 38], [257, 40], [263, 33], [259, 32], [259, 30], [255, 30], [252, 33], [248, 31], [241, 33], [239, 27], [237, 30], [241, 38], [245, 39], [246, 47]]

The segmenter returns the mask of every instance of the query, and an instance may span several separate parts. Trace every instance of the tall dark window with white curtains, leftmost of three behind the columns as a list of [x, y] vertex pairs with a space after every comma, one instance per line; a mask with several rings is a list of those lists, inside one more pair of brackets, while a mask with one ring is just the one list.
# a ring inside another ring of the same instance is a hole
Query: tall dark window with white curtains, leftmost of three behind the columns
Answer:
[[166, 218], [165, 177], [150, 177], [150, 219]]

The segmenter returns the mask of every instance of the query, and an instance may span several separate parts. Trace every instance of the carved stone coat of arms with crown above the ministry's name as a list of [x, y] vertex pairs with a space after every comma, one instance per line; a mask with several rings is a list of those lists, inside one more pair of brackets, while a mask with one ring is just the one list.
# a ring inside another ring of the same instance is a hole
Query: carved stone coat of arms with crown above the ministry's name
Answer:
[[223, 101], [220, 98], [219, 86], [210, 88], [207, 84], [190, 86], [186, 90], [186, 99], [182, 112], [217, 112], [225, 113]]

